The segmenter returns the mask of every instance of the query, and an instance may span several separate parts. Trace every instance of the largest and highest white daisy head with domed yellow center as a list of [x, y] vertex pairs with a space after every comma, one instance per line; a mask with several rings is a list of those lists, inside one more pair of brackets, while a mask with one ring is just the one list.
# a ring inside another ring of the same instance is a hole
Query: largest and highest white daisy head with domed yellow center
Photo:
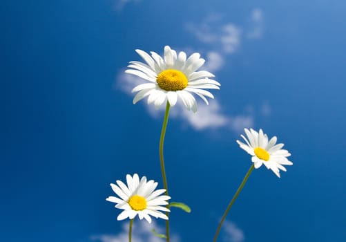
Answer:
[[143, 50], [135, 50], [144, 62], [130, 62], [125, 73], [137, 75], [148, 83], [135, 86], [133, 104], [148, 97], [148, 104], [159, 108], [166, 100], [171, 106], [181, 100], [186, 109], [197, 111], [197, 102], [191, 93], [195, 93], [208, 104], [206, 97], [213, 94], [204, 89], [220, 89], [220, 83], [209, 77], [215, 77], [208, 71], [197, 71], [204, 64], [199, 53], [186, 58], [186, 53], [176, 53], [169, 46], [164, 47], [164, 57], [151, 51], [151, 55]]

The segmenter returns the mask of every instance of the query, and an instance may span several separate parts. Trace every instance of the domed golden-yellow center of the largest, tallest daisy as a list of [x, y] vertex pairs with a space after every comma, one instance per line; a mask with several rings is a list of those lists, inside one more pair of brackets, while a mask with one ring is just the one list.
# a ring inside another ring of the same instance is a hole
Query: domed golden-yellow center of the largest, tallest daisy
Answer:
[[160, 89], [166, 91], [179, 91], [187, 86], [187, 78], [181, 71], [167, 69], [162, 71], [156, 78]]

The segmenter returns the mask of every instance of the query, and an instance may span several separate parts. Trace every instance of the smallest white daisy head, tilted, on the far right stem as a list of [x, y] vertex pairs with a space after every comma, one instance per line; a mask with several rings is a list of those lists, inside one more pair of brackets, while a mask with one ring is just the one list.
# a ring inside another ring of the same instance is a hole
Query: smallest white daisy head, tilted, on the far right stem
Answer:
[[244, 129], [247, 134], [247, 138], [243, 135], [241, 136], [246, 144], [237, 140], [240, 148], [247, 151], [252, 158], [252, 162], [255, 165], [255, 168], [259, 168], [262, 164], [265, 164], [267, 169], [271, 169], [273, 173], [280, 178], [280, 170], [286, 171], [286, 168], [283, 165], [293, 165], [287, 157], [291, 156], [291, 153], [286, 149], [282, 149], [284, 144], [276, 144], [277, 138], [273, 136], [268, 141], [267, 134], [263, 133], [262, 129], [259, 132], [254, 131], [253, 129]]

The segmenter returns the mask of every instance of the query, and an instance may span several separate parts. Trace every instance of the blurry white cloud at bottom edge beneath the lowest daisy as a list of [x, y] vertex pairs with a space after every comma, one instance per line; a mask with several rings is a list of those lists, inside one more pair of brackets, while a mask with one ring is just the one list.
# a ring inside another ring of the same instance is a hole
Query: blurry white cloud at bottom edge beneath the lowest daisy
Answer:
[[[122, 231], [117, 234], [101, 234], [90, 236], [90, 241], [97, 242], [124, 242], [128, 241], [128, 225], [129, 223], [124, 223]], [[135, 221], [132, 227], [132, 241], [133, 242], [162, 242], [161, 238], [158, 238], [151, 232], [155, 228], [158, 233], [164, 234], [164, 229], [153, 221], [152, 223], [146, 223], [146, 221]], [[177, 234], [171, 234], [172, 242], [180, 242], [179, 236]]]

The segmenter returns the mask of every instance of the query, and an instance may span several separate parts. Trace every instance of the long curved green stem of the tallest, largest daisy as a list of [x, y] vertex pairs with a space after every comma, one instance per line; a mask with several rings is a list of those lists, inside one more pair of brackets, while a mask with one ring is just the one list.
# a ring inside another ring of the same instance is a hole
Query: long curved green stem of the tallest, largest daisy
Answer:
[[[171, 106], [169, 105], [169, 102], [167, 101], [166, 104], [166, 113], [164, 113], [164, 122], [162, 124], [161, 129], [161, 137], [160, 137], [160, 165], [161, 165], [161, 173], [162, 173], [162, 180], [164, 181], [164, 189], [166, 189], [165, 194], [168, 196], [169, 194], [169, 188], [167, 185], [167, 178], [166, 178], [166, 171], [164, 169], [164, 135], [166, 134], [166, 127], [167, 122], [169, 121], [169, 108]], [[167, 208], [169, 208], [169, 205], [166, 205]], [[169, 212], [166, 212], [166, 216], [169, 216]], [[169, 242], [169, 220], [166, 220], [166, 240]]]

